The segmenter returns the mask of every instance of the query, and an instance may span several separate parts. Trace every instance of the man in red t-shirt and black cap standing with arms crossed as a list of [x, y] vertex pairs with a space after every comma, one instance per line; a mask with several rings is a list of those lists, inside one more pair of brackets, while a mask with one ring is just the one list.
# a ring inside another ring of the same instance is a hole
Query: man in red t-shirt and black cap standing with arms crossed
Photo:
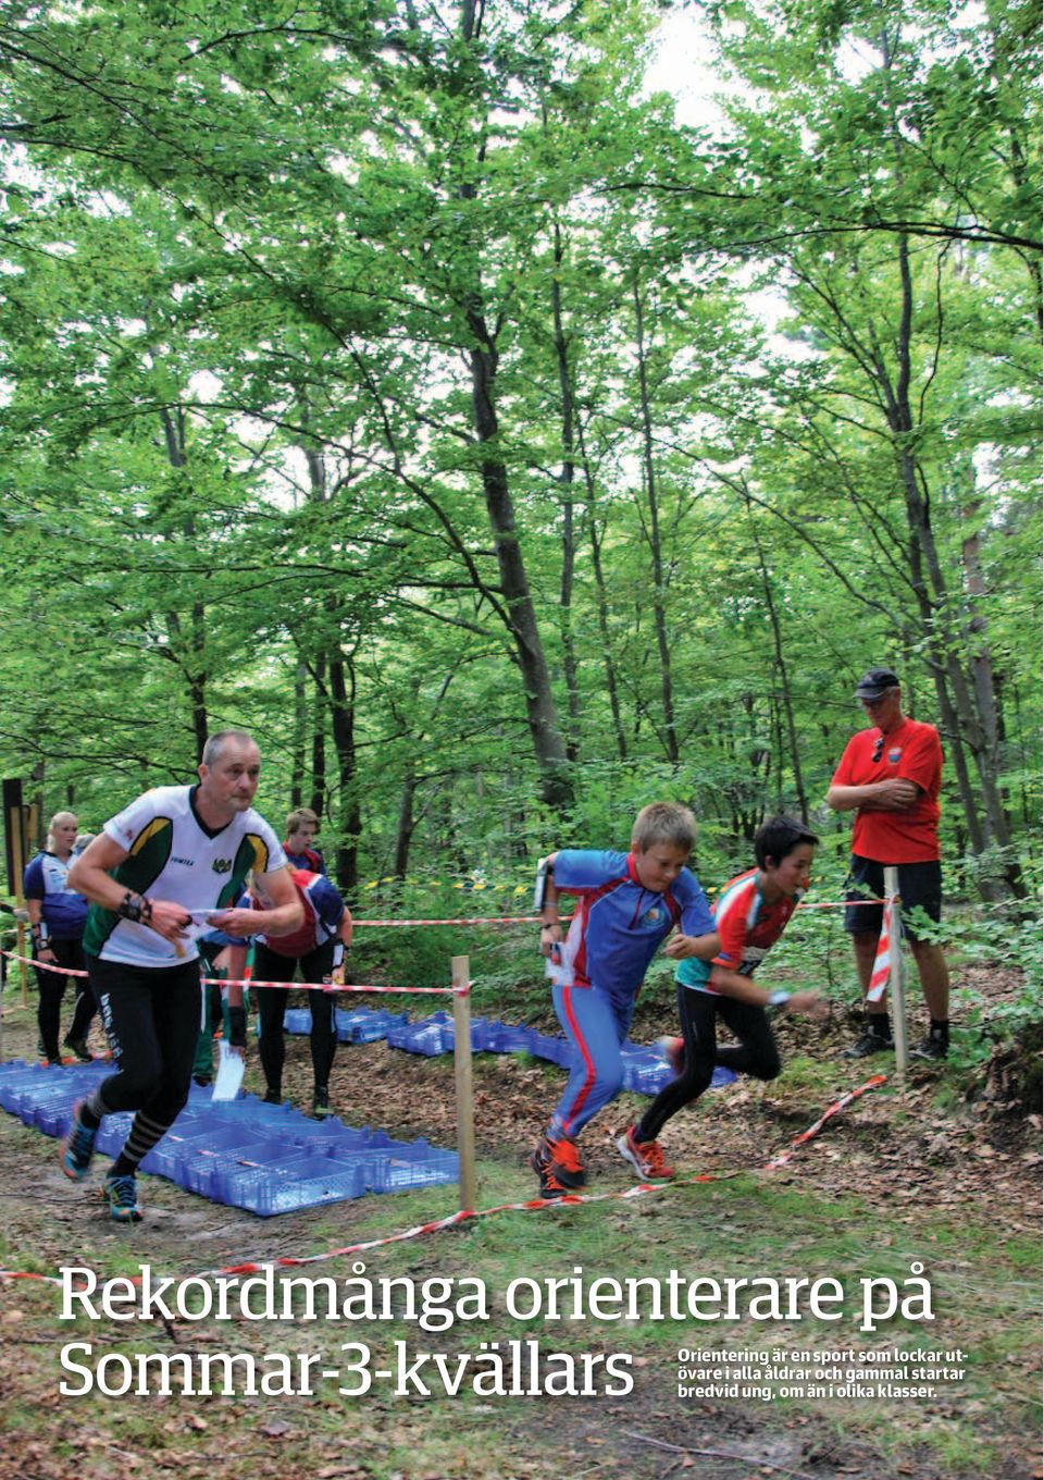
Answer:
[[[911, 910], [924, 910], [938, 924], [942, 909], [939, 863], [939, 784], [942, 746], [933, 725], [908, 719], [902, 712], [899, 679], [887, 667], [871, 667], [859, 679], [855, 697], [862, 703], [870, 730], [859, 730], [844, 747], [827, 792], [834, 811], [855, 811], [849, 901], [884, 894], [884, 869], [899, 870], [904, 931], [909, 940], [930, 1026], [914, 1054], [945, 1058], [949, 1048], [949, 971], [942, 947], [920, 940]], [[870, 990], [880, 904], [850, 903], [844, 928], [852, 935], [856, 971], [864, 995]], [[887, 1002], [867, 1002], [862, 1037], [847, 1049], [864, 1058], [893, 1046]]]

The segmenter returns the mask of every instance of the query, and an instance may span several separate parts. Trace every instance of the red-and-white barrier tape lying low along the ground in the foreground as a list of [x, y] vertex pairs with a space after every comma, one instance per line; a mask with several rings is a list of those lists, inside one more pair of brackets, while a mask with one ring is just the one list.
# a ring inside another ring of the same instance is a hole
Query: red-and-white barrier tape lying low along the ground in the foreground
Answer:
[[[807, 1131], [803, 1131], [791, 1141], [787, 1151], [773, 1157], [762, 1169], [773, 1172], [781, 1166], [785, 1166], [794, 1153], [810, 1141], [828, 1120], [831, 1120], [835, 1114], [840, 1114], [841, 1110], [847, 1109], [847, 1106], [850, 1106], [861, 1095], [865, 1095], [870, 1089], [878, 1089], [884, 1083], [887, 1083], [886, 1074], [874, 1074], [865, 1083], [850, 1089], [846, 1095], [841, 1095], [840, 1100], [834, 1101], [834, 1104], [819, 1116], [815, 1125], [810, 1125]], [[337, 1249], [325, 1249], [322, 1254], [279, 1255], [275, 1259], [251, 1259], [245, 1264], [226, 1264], [220, 1268], [203, 1270], [194, 1276], [186, 1274], [185, 1279], [214, 1279], [220, 1274], [262, 1274], [266, 1268], [293, 1270], [300, 1268], [305, 1264], [319, 1264], [325, 1259], [342, 1259], [353, 1254], [368, 1254], [371, 1249], [383, 1249], [392, 1243], [405, 1243], [408, 1239], [418, 1239], [429, 1233], [441, 1233], [444, 1228], [454, 1228], [458, 1224], [472, 1222], [478, 1218], [492, 1218], [501, 1212], [553, 1212], [555, 1208], [578, 1208], [583, 1203], [628, 1202], [633, 1197], [648, 1197], [651, 1193], [671, 1191], [676, 1187], [691, 1187], [696, 1183], [728, 1181], [732, 1177], [739, 1177], [744, 1171], [745, 1168], [726, 1172], [696, 1172], [692, 1177], [677, 1177], [670, 1183], [637, 1183], [634, 1187], [628, 1187], [621, 1193], [569, 1193], [565, 1197], [556, 1197], [549, 1202], [544, 1202], [541, 1197], [532, 1197], [528, 1202], [497, 1203], [494, 1208], [460, 1208], [447, 1218], [436, 1218], [432, 1222], [418, 1222], [413, 1228], [402, 1228], [399, 1233], [389, 1233], [383, 1239], [368, 1239], [362, 1243], [346, 1243]], [[135, 1285], [140, 1285], [142, 1280], [140, 1274], [129, 1276], [129, 1279]], [[37, 1280], [44, 1285], [62, 1283], [56, 1274], [35, 1274], [28, 1270], [0, 1270], [0, 1280]]]

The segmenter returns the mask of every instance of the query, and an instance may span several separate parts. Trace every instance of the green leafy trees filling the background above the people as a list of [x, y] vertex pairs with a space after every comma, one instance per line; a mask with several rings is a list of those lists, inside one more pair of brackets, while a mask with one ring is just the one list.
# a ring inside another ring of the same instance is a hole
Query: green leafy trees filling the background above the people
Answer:
[[1038, 73], [1022, 0], [7, 0], [3, 774], [98, 829], [244, 725], [353, 903], [661, 795], [843, 872], [884, 663], [1019, 909]]

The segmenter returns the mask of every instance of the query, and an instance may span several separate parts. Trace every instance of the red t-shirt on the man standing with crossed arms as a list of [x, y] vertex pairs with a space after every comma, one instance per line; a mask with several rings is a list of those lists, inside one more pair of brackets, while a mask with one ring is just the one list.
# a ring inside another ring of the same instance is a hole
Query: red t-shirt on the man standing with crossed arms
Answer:
[[[877, 743], [884, 744], [874, 761]], [[856, 808], [852, 852], [874, 863], [926, 863], [939, 857], [939, 784], [942, 746], [935, 725], [904, 719], [887, 736], [874, 725], [852, 736], [831, 786], [870, 786], [892, 777], [915, 781], [920, 795], [902, 813]]]

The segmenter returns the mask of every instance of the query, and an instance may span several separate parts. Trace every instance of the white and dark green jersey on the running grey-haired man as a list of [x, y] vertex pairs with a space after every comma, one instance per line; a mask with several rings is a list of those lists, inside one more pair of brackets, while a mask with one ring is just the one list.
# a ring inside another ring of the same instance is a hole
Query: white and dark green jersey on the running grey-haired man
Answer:
[[[282, 844], [265, 818], [250, 808], [238, 813], [219, 832], [195, 811], [195, 786], [157, 786], [105, 823], [105, 835], [127, 857], [112, 878], [136, 894], [172, 900], [192, 910], [189, 935], [213, 929], [206, 912], [231, 909], [247, 873], [275, 873], [287, 864]], [[114, 910], [92, 904], [83, 949], [102, 961], [135, 966], [173, 966], [198, 956], [195, 940], [180, 943], [180, 956], [170, 941], [148, 925], [121, 919]]]

